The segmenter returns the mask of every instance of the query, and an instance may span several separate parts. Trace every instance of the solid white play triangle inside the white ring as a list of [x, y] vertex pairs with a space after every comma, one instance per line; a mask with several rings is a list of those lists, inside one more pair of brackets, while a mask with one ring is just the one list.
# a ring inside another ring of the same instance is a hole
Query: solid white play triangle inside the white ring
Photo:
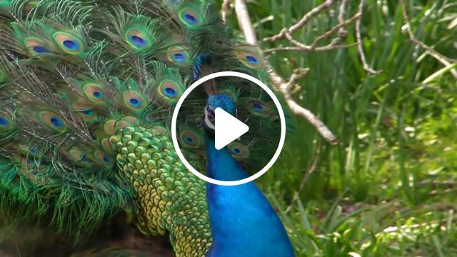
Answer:
[[249, 130], [246, 124], [238, 121], [238, 119], [221, 108], [214, 110], [214, 123], [214, 146], [218, 150], [221, 150], [236, 138], [243, 136]]

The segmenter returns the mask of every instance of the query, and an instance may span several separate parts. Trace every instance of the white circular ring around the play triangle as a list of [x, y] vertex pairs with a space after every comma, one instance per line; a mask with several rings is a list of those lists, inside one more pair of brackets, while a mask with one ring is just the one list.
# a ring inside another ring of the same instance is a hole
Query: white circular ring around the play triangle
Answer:
[[[260, 171], [257, 173], [253, 174], [252, 176], [249, 176], [248, 178], [243, 178], [237, 181], [220, 181], [214, 178], [210, 178], [208, 176], [205, 176], [204, 174], [200, 173], [197, 171], [191, 164], [186, 160], [184, 157], [183, 153], [181, 152], [181, 148], [179, 148], [179, 143], [178, 143], [178, 138], [176, 137], [176, 121], [178, 119], [178, 113], [179, 109], [181, 109], [182, 104], [184, 103], [184, 100], [191, 94], [191, 91], [194, 91], [197, 86], [200, 84], [204, 83], [205, 81], [209, 81], [210, 79], [215, 79], [219, 78], [221, 76], [236, 76], [238, 78], [242, 79], [247, 79], [248, 81], [251, 81], [255, 83], [257, 86], [260, 86], [263, 90], [265, 90], [268, 95], [273, 99], [274, 104], [276, 105], [276, 108], [278, 109], [279, 113], [279, 119], [281, 121], [281, 136], [279, 137], [279, 143], [278, 143], [278, 148], [276, 148], [276, 152], [273, 155], [273, 158], [266, 164], [265, 167], [263, 167]], [[259, 81], [258, 79], [254, 78], [253, 76], [250, 76], [248, 74], [243, 74], [241, 72], [236, 72], [236, 71], [221, 71], [221, 72], [216, 72], [214, 74], [209, 74], [207, 76], [204, 76], [203, 78], [199, 79], [198, 81], [195, 81], [194, 84], [189, 86], [186, 91], [184, 91], [184, 94], [179, 98], [178, 103], [175, 106], [174, 112], [173, 112], [173, 117], [171, 118], [171, 140], [173, 141], [173, 146], [176, 150], [176, 153], [178, 153], [179, 158], [181, 161], [184, 163], [184, 166], [191, 171], [191, 173], [194, 173], [195, 176], [203, 179], [206, 182], [209, 183], [214, 183], [216, 185], [221, 185], [221, 186], [237, 186], [237, 185], [242, 185], [243, 183], [248, 183], [253, 181], [254, 179], [262, 176], [266, 171], [268, 171], [271, 166], [273, 166], [273, 163], [278, 159], [279, 154], [281, 153], [281, 150], [284, 145], [284, 140], [286, 138], [286, 119], [284, 118], [284, 113], [283, 109], [281, 107], [281, 104], [279, 104], [278, 98], [273, 94], [273, 91], [271, 89], [268, 89], [268, 86], [263, 84], [262, 81]]]

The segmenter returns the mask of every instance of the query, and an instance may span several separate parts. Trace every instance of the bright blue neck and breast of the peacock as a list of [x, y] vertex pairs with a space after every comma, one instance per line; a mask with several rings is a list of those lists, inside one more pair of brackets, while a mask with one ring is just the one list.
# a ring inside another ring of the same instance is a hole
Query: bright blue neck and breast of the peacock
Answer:
[[[211, 178], [238, 180], [248, 174], [227, 148], [214, 148], [206, 137], [207, 171]], [[253, 182], [239, 186], [206, 185], [213, 244], [207, 257], [294, 256], [276, 212]]]

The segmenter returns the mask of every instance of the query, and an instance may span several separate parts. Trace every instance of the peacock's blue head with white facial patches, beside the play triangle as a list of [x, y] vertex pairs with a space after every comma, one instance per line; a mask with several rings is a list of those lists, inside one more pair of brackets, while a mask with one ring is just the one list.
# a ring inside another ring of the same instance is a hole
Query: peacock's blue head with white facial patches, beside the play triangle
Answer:
[[203, 126], [206, 131], [214, 132], [214, 129], [216, 128], [214, 124], [216, 118], [214, 110], [216, 110], [216, 108], [221, 108], [233, 116], [236, 113], [236, 105], [230, 96], [226, 94], [209, 96], [208, 101], [206, 101], [203, 120]]

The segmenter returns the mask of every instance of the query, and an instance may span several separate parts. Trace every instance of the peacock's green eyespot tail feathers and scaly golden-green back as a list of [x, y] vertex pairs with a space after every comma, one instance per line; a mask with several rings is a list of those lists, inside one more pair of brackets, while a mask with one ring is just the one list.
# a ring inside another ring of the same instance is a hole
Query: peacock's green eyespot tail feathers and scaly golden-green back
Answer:
[[[176, 256], [224, 256], [221, 231], [211, 230], [221, 225], [218, 210], [211, 214], [219, 187], [179, 160], [171, 114], [206, 74], [240, 71], [266, 81], [267, 73], [261, 53], [226, 28], [214, 1], [0, 0], [0, 34], [1, 213], [46, 220], [75, 243], [126, 213], [144, 236], [169, 235]], [[199, 171], [221, 164], [201, 118], [206, 100], [224, 95], [258, 131], [225, 148], [226, 158], [237, 171], [256, 171], [277, 139], [271, 99], [231, 78], [205, 89], [181, 109], [186, 158]], [[291, 253], [255, 185], [231, 190], [258, 196]]]

